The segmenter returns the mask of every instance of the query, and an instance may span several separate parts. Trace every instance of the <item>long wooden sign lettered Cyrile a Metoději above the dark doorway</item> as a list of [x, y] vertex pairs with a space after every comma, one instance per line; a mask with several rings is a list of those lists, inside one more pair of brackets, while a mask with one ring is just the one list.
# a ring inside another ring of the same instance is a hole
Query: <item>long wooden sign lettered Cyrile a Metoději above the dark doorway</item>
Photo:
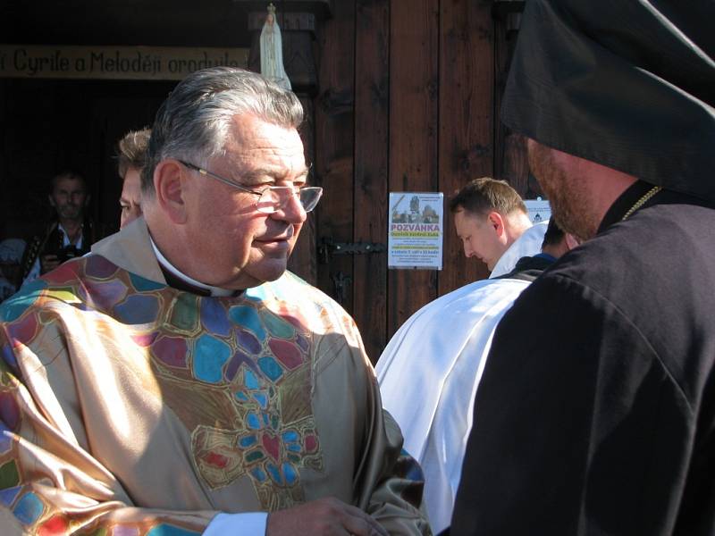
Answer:
[[181, 80], [219, 65], [246, 68], [248, 48], [0, 45], [0, 78]]

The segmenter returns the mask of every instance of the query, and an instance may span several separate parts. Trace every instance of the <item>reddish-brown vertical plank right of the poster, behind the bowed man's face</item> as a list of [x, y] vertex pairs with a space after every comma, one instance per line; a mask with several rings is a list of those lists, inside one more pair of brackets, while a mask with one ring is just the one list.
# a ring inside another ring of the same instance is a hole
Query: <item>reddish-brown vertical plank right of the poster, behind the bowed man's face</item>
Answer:
[[[442, 0], [440, 13], [440, 189], [493, 176], [494, 54], [491, 2]], [[466, 259], [445, 202], [440, 296], [488, 276]]]

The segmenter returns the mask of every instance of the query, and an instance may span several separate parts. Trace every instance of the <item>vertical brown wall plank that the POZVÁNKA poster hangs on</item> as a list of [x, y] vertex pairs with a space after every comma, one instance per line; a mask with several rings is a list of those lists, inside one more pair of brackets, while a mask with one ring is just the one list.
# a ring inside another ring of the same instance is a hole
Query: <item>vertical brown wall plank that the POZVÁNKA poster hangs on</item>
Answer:
[[[439, 12], [439, 0], [391, 3], [391, 191], [439, 190]], [[437, 272], [389, 271], [388, 335], [435, 297]]]

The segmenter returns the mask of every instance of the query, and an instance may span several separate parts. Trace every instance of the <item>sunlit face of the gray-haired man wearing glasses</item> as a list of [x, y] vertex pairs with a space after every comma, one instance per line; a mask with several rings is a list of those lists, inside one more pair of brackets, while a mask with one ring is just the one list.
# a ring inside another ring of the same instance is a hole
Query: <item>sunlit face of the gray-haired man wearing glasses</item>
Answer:
[[[305, 185], [307, 166], [298, 131], [242, 114], [233, 118], [226, 153], [206, 169], [248, 188]], [[199, 188], [187, 197], [187, 251], [203, 259], [199, 281], [247, 289], [286, 270], [307, 214], [298, 197], [273, 214], [256, 210], [257, 196], [191, 172]]]

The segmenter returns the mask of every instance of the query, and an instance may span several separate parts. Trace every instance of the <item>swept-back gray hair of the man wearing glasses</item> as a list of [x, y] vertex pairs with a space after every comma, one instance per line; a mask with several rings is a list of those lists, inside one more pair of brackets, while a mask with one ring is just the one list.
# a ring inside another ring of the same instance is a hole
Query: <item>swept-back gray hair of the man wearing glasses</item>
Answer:
[[206, 166], [209, 159], [224, 155], [231, 119], [240, 113], [285, 128], [298, 129], [303, 122], [298, 97], [256, 72], [231, 67], [195, 71], [156, 113], [141, 172], [142, 194], [154, 195], [154, 170], [165, 158]]

